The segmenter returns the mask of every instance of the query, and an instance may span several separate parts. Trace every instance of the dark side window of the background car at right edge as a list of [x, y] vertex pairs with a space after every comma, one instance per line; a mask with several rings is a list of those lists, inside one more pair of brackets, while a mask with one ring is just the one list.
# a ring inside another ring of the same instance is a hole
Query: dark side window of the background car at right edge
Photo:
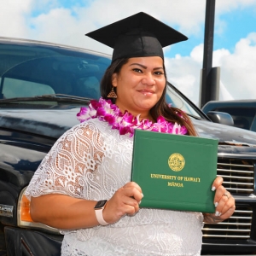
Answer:
[[214, 111], [230, 113], [236, 127], [250, 130], [256, 109], [255, 108], [215, 108]]

